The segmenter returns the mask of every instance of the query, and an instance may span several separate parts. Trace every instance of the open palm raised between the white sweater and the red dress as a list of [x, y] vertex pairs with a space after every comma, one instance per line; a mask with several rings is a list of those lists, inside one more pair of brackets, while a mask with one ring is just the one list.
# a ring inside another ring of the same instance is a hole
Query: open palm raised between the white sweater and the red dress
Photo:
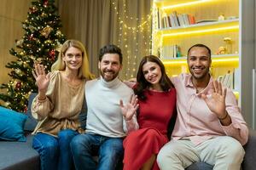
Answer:
[[136, 113], [138, 108], [137, 102], [138, 102], [137, 96], [134, 94], [131, 95], [131, 99], [129, 103], [127, 103], [126, 105], [124, 105], [123, 100], [120, 99], [120, 107], [126, 121], [130, 121], [132, 116]]

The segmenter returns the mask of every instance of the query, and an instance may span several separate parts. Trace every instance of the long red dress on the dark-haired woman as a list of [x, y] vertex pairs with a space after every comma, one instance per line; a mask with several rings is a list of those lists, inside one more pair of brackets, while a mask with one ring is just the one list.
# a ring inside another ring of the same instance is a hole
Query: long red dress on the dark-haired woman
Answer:
[[[124, 170], [138, 170], [153, 154], [168, 142], [168, 123], [176, 110], [176, 90], [169, 92], [145, 91], [147, 99], [139, 100], [139, 129], [124, 140]], [[156, 161], [154, 170], [159, 169]]]

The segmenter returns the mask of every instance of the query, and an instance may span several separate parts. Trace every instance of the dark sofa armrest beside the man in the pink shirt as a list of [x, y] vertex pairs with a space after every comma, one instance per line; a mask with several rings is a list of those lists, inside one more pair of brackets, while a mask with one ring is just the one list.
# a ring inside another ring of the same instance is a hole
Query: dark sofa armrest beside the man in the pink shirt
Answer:
[[242, 169], [254, 169], [256, 167], [256, 130], [249, 131], [249, 139], [244, 145], [246, 154], [242, 162]]

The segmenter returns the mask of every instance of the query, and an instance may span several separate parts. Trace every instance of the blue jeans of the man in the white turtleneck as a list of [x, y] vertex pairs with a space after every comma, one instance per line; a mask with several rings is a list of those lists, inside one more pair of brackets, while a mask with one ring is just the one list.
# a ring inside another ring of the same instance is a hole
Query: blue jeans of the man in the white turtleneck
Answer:
[[[124, 154], [123, 138], [108, 138], [84, 133], [70, 143], [77, 170], [114, 170]], [[93, 156], [99, 156], [98, 166]]]

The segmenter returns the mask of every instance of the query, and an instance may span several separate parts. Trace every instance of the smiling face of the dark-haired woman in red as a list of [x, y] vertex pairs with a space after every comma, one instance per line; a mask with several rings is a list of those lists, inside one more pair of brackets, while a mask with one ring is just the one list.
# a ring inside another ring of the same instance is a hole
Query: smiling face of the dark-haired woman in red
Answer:
[[147, 82], [149, 82], [152, 87], [160, 85], [160, 78], [162, 77], [162, 72], [160, 70], [160, 65], [147, 61], [143, 65], [143, 75]]

